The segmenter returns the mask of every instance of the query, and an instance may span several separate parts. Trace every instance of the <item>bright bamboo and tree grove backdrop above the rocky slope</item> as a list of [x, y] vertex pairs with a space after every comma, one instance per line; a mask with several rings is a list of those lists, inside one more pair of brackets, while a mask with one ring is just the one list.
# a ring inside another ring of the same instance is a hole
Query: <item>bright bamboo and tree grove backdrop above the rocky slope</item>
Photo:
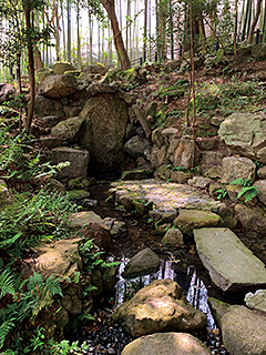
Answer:
[[176, 59], [190, 49], [191, 12], [197, 54], [236, 53], [245, 39], [266, 41], [265, 9], [262, 0], [1, 0], [0, 80], [27, 73], [28, 44], [44, 67]]

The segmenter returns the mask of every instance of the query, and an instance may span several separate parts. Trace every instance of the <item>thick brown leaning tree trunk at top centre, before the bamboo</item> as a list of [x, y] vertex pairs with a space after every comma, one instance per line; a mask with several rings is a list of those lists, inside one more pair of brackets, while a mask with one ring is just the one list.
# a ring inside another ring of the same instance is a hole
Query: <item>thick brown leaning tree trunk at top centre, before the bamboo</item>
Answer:
[[114, 11], [114, 0], [101, 0], [101, 2], [103, 4], [104, 9], [108, 11], [108, 16], [111, 21], [112, 31], [113, 31], [113, 39], [114, 39], [114, 47], [116, 49], [117, 57], [121, 62], [121, 67], [123, 70], [126, 70], [126, 69], [131, 68], [131, 62], [130, 62], [129, 55], [127, 55], [125, 47], [124, 47], [122, 33], [119, 29], [119, 22], [117, 22], [115, 11]]

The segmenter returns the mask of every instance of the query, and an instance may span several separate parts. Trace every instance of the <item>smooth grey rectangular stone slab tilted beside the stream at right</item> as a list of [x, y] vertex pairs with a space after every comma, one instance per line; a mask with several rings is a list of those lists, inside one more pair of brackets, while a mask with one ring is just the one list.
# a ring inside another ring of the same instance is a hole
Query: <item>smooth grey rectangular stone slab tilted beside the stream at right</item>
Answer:
[[216, 286], [224, 292], [266, 287], [265, 264], [229, 229], [193, 232], [197, 253]]

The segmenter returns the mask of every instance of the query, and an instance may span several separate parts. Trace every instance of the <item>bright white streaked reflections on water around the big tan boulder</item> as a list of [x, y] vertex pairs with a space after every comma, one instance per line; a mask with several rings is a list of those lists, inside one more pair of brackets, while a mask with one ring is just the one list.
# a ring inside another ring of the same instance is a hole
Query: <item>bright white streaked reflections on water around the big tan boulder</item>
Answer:
[[115, 307], [132, 298], [139, 290], [149, 285], [152, 281], [171, 278], [183, 287], [186, 300], [191, 303], [191, 305], [206, 315], [208, 327], [216, 329], [215, 321], [207, 304], [207, 288], [203, 281], [198, 277], [193, 265], [187, 267], [186, 274], [181, 272], [175, 273], [173, 261], [161, 260], [160, 268], [155, 274], [134, 278], [124, 278], [122, 274], [129, 261], [130, 260], [124, 256], [121, 258], [119, 282], [115, 286]]

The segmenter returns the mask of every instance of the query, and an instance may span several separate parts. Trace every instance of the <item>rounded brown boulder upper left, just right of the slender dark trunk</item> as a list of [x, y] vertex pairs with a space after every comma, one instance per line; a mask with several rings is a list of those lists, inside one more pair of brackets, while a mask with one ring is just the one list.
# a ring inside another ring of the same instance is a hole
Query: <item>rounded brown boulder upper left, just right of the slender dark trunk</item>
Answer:
[[50, 75], [39, 85], [39, 93], [51, 99], [65, 98], [76, 91], [78, 81], [73, 75]]

